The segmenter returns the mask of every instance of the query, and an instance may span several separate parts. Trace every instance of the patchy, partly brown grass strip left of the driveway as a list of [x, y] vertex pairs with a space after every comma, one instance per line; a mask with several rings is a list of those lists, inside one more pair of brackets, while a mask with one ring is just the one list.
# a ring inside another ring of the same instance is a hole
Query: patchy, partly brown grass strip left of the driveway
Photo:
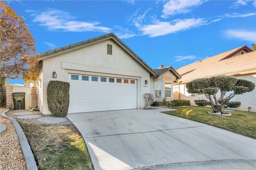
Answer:
[[89, 152], [75, 126], [35, 125], [19, 121], [41, 170], [93, 169]]

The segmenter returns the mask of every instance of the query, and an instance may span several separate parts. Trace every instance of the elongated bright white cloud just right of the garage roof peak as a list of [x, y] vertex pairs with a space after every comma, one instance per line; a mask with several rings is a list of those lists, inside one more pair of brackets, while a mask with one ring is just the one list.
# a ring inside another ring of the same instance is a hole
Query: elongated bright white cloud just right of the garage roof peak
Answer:
[[156, 21], [154, 24], [143, 25], [140, 27], [140, 30], [144, 35], [149, 35], [149, 37], [157, 37], [199, 27], [203, 24], [205, 24], [205, 21], [201, 18], [174, 20], [172, 23]]

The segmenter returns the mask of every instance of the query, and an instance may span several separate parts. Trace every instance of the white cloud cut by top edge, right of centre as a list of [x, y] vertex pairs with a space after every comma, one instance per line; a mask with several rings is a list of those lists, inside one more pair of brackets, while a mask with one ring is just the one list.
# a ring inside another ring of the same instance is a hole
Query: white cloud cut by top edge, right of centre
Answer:
[[162, 18], [167, 18], [169, 15], [187, 13], [191, 11], [191, 7], [203, 4], [204, 0], [170, 0], [164, 4]]

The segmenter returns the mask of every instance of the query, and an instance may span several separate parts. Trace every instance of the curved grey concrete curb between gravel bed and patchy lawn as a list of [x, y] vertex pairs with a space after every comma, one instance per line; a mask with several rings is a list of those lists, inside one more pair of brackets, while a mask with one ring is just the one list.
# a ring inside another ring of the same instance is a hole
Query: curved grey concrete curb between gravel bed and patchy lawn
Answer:
[[16, 130], [16, 133], [17, 133], [19, 141], [20, 141], [20, 147], [21, 147], [22, 154], [23, 154], [23, 157], [26, 162], [27, 169], [28, 170], [38, 170], [33, 152], [29, 146], [29, 143], [28, 143], [25, 133], [23, 132], [20, 124], [17, 122], [17, 120], [15, 120], [15, 118], [5, 115], [5, 113], [8, 111], [9, 111], [9, 108], [7, 108], [4, 112], [2, 112], [1, 115], [12, 121], [12, 124]]

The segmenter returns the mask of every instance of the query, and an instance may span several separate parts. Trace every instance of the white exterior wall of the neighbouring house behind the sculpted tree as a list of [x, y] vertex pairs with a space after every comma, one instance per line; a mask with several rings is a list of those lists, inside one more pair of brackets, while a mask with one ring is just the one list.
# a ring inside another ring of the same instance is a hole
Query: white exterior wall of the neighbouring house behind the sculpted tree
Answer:
[[[256, 84], [256, 74], [239, 75], [236, 77], [238, 79], [245, 79], [245, 80], [252, 81], [254, 84]], [[175, 84], [173, 87], [179, 87], [179, 85]], [[204, 95], [198, 95], [198, 94], [195, 94], [195, 96], [191, 96], [191, 95], [192, 94], [189, 94], [187, 92], [186, 84], [180, 84], [180, 98], [190, 100], [191, 105], [196, 106], [194, 100], [202, 100], [202, 99], [208, 100]], [[217, 94], [217, 96], [219, 96], [219, 93]], [[248, 111], [248, 107], [251, 107], [250, 111], [256, 112], [256, 89], [242, 95], [236, 95], [234, 98], [231, 98], [231, 101], [241, 102], [241, 106], [236, 108], [236, 110], [238, 111]]]

